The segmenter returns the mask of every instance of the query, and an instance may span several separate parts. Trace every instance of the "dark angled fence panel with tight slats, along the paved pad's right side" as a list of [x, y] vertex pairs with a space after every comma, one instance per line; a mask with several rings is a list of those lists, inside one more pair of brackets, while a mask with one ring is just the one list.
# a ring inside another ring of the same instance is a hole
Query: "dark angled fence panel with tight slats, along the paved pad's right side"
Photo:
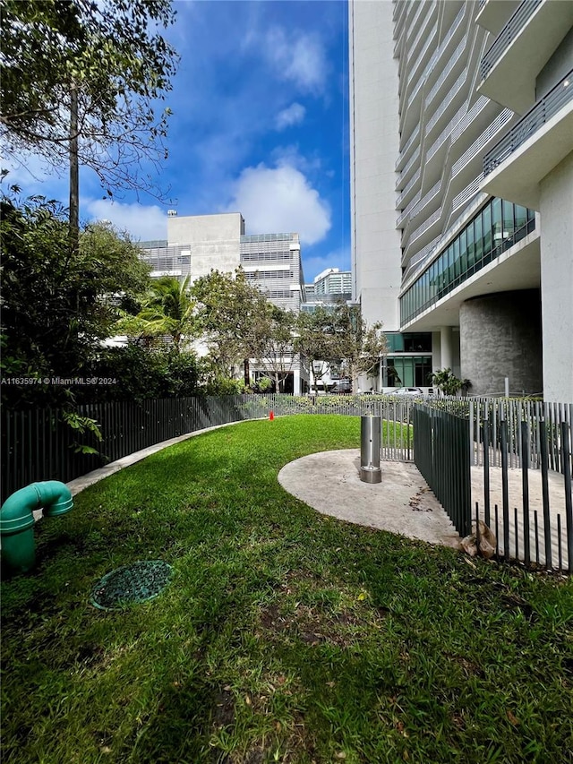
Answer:
[[440, 408], [415, 406], [414, 454], [416, 467], [454, 527], [467, 536], [472, 524], [469, 420]]

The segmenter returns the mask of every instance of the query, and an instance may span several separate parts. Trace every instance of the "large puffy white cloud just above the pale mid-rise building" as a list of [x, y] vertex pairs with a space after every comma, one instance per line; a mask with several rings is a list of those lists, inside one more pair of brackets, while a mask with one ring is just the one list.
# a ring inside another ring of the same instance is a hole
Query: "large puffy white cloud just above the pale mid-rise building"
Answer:
[[252, 234], [297, 232], [305, 245], [321, 241], [330, 229], [329, 204], [295, 167], [246, 167], [227, 208], [240, 211]]

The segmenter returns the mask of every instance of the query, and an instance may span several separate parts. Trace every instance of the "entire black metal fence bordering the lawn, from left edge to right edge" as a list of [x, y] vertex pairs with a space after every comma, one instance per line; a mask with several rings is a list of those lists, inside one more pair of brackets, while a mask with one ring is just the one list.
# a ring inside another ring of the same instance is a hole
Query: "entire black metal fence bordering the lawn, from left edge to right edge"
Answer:
[[[570, 404], [508, 399], [422, 403], [398, 396], [272, 394], [81, 406], [77, 414], [98, 423], [102, 442], [90, 433], [78, 434], [55, 410], [4, 410], [1, 500], [37, 480], [67, 483], [158, 442], [215, 425], [268, 417], [271, 411], [276, 416], [381, 416], [383, 458], [415, 459], [462, 536], [470, 533], [473, 514], [492, 528], [500, 559], [573, 570]], [[82, 453], [81, 444], [96, 448], [98, 454]], [[483, 479], [477, 493], [475, 470]]]

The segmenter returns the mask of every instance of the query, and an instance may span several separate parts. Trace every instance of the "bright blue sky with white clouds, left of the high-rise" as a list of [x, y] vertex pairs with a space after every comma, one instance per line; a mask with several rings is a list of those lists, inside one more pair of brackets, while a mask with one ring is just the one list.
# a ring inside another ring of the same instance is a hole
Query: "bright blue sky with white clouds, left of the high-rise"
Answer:
[[[181, 56], [158, 185], [169, 202], [102, 199], [81, 174], [81, 219], [136, 239], [179, 215], [238, 211], [248, 234], [298, 231], [307, 281], [350, 268], [346, 0], [177, 0], [166, 36]], [[12, 182], [66, 203], [67, 181], [26, 159]], [[30, 170], [33, 176], [30, 175]]]

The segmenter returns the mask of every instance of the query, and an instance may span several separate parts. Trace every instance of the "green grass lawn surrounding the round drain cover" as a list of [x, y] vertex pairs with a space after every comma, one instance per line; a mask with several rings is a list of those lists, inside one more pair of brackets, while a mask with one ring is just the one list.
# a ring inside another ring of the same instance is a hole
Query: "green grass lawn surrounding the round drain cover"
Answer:
[[[329, 519], [286, 462], [359, 417], [202, 434], [36, 528], [4, 582], [4, 764], [573, 761], [573, 587]], [[48, 476], [47, 476], [48, 477]], [[129, 562], [155, 600], [89, 604]]]

